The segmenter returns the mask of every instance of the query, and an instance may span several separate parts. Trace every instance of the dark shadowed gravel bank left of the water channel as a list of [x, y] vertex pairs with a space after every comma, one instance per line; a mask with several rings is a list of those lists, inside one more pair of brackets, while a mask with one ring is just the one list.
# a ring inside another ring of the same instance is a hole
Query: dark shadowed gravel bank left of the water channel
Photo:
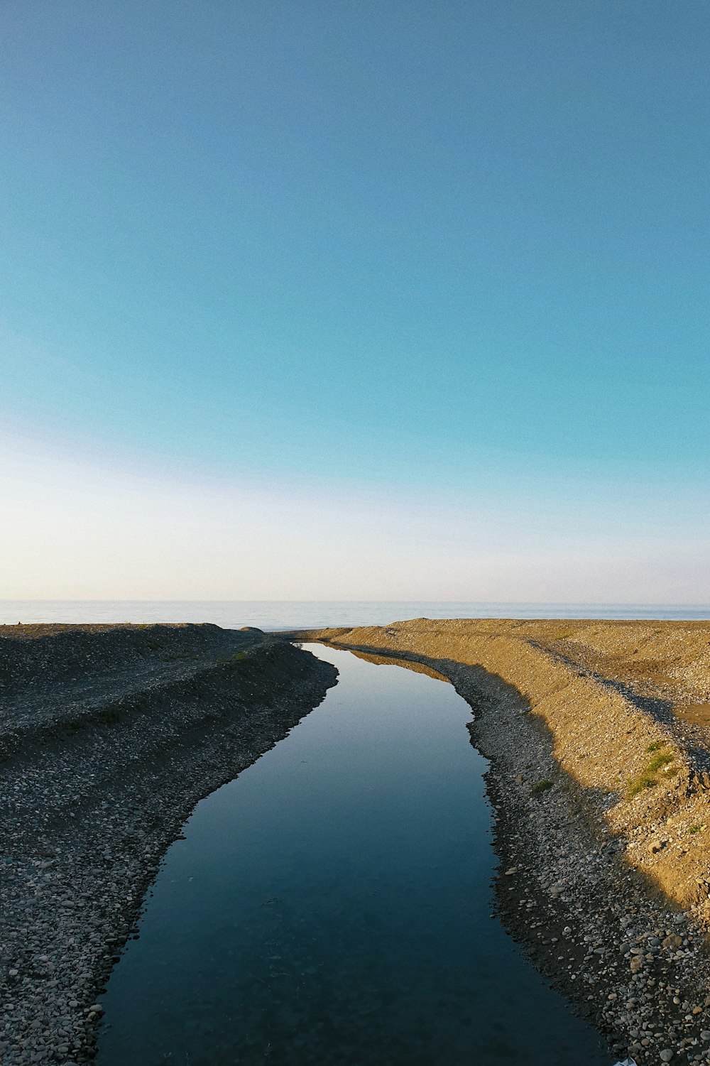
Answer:
[[336, 671], [259, 630], [2, 628], [0, 1061], [68, 1066], [95, 1054], [96, 998], [195, 803]]

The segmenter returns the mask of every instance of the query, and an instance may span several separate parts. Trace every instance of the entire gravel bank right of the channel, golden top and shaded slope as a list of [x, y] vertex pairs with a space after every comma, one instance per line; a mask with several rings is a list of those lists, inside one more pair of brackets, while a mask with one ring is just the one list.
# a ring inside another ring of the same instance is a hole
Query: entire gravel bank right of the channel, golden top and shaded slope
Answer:
[[[684, 671], [673, 653], [683, 646], [680, 624], [616, 624], [611, 635], [595, 624], [606, 664], [577, 624], [566, 626], [571, 642], [560, 636], [564, 624], [514, 633], [519, 625], [417, 619], [294, 635], [449, 678], [473, 709], [472, 743], [490, 760], [497, 897], [513, 934], [619, 1057], [710, 1063], [707, 733], [690, 737], [673, 713], [677, 700], [707, 693], [710, 626], [692, 630]], [[630, 655], [653, 629], [662, 634], [648, 659], [655, 671], [632, 663], [610, 677], [614, 658], [628, 660], [619, 642]]]

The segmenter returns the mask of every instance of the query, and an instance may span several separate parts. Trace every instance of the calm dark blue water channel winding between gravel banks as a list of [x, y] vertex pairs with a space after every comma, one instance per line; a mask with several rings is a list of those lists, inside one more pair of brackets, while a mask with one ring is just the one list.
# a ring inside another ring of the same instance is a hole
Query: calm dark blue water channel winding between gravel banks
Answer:
[[100, 1066], [609, 1066], [490, 917], [467, 705], [312, 650], [338, 685], [171, 847], [104, 997]]

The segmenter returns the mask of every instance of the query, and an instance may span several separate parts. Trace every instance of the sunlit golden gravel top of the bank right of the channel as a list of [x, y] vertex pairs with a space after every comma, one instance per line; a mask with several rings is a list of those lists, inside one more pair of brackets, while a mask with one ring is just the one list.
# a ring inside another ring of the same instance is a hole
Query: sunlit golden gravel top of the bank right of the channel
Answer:
[[416, 618], [309, 635], [502, 679], [549, 730], [561, 784], [600, 830], [622, 837], [629, 863], [673, 903], [710, 920], [710, 621]]

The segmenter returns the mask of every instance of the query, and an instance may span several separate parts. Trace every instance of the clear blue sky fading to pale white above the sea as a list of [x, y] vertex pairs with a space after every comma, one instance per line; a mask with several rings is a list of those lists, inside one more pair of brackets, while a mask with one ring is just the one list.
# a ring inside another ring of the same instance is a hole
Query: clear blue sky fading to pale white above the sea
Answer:
[[0, 598], [710, 602], [709, 37], [5, 0]]

